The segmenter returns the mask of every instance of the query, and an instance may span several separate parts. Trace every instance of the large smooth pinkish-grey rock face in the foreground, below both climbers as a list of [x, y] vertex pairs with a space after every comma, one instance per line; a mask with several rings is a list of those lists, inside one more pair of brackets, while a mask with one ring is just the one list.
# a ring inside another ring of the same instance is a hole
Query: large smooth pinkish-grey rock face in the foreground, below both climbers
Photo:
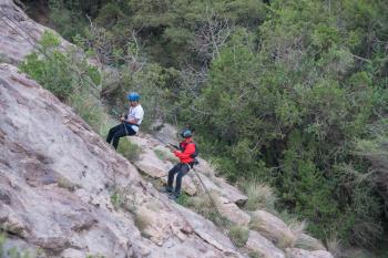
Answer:
[[[213, 223], [171, 204], [8, 64], [0, 65], [0, 223], [48, 257], [239, 257]], [[131, 207], [113, 208], [118, 189]]]

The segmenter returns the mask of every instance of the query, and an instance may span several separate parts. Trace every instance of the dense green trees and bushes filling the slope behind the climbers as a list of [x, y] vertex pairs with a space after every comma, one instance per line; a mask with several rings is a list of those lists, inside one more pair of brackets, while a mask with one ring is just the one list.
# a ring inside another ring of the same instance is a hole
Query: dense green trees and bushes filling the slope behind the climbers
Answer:
[[50, 0], [48, 7], [64, 37], [114, 68], [101, 92], [112, 109], [135, 89], [149, 121], [195, 125], [203, 155], [228, 179], [270, 184], [278, 208], [307, 219], [321, 239], [371, 247], [382, 237], [386, 1]]

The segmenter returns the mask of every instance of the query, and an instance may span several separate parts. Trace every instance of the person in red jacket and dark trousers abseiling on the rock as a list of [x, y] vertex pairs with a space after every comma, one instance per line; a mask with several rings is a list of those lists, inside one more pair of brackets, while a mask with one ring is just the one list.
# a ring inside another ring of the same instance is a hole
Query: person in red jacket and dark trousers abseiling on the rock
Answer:
[[[170, 193], [170, 198], [176, 199], [181, 195], [182, 177], [187, 174], [191, 167], [195, 164], [197, 156], [196, 144], [193, 142], [193, 133], [191, 130], [185, 128], [181, 136], [184, 138], [180, 143], [180, 151], [175, 149], [173, 153], [180, 158], [180, 163], [176, 164], [169, 172], [169, 180], [165, 192]], [[174, 176], [176, 175], [175, 190], [173, 188]]]

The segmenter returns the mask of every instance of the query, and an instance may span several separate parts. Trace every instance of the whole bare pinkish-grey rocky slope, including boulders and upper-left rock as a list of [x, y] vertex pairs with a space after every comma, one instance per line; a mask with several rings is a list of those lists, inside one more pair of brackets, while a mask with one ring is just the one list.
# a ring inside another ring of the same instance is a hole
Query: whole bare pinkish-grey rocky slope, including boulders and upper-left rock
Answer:
[[[17, 64], [34, 44], [23, 33], [38, 39], [44, 28], [12, 1], [0, 0], [0, 11], [9, 20], [0, 20], [0, 53]], [[156, 136], [175, 141], [173, 130], [164, 127]], [[153, 182], [163, 182], [172, 165], [170, 158], [160, 158], [167, 149], [157, 138], [133, 137], [142, 153], [131, 164], [69, 106], [16, 66], [0, 64], [0, 225], [8, 233], [6, 249], [17, 246], [34, 250], [38, 257], [69, 258], [243, 257], [247, 252], [268, 258], [331, 257], [319, 241], [296, 236], [276, 216], [241, 209], [246, 196], [201, 161], [197, 169], [217, 195], [223, 215], [241, 226], [261, 221], [257, 230], [249, 231], [245, 247], [235, 250], [212, 221], [171, 203], [143, 179], [137, 168]], [[190, 195], [200, 194], [194, 176], [184, 182]], [[318, 250], [293, 248], [297, 238]], [[279, 245], [284, 239], [293, 242]]]

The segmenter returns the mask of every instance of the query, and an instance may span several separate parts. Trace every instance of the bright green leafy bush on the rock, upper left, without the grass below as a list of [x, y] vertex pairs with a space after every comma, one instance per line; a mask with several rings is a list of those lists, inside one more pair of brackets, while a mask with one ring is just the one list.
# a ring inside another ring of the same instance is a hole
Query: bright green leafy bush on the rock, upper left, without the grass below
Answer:
[[68, 52], [59, 49], [60, 42], [53, 32], [44, 31], [38, 42], [39, 51], [27, 55], [20, 70], [63, 102], [72, 95], [84, 93], [80, 92], [81, 89], [96, 94], [95, 85], [101, 81], [98, 69], [89, 65], [75, 49]]

